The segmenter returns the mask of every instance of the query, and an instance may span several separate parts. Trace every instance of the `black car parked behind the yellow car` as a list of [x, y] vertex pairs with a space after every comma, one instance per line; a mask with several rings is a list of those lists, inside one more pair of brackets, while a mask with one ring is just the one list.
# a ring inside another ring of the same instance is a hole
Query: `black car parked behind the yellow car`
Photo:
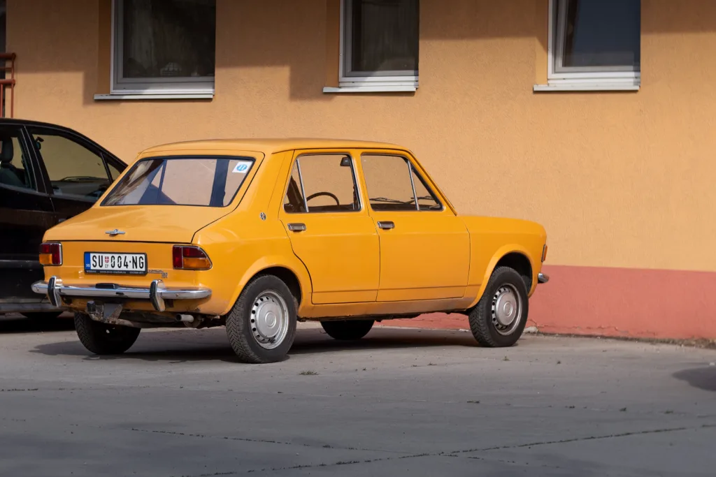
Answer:
[[45, 230], [89, 209], [127, 167], [91, 139], [57, 124], [0, 119], [0, 315], [61, 312], [32, 292]]

